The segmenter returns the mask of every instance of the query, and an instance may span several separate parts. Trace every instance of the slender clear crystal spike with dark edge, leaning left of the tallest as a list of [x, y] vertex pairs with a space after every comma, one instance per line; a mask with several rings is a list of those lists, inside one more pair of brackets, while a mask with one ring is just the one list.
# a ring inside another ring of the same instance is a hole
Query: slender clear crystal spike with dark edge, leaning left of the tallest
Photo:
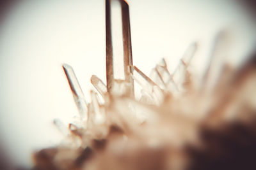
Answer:
[[71, 66], [68, 64], [63, 64], [63, 69], [68, 79], [70, 89], [72, 91], [74, 101], [76, 103], [77, 109], [79, 111], [82, 120], [87, 120], [87, 104], [84, 98], [83, 91], [77, 81], [76, 74]]

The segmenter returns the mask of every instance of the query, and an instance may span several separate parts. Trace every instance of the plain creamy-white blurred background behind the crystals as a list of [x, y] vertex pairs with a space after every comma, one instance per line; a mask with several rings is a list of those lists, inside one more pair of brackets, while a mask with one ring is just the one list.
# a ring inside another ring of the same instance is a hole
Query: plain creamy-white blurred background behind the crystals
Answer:
[[[256, 45], [255, 18], [242, 1], [128, 3], [133, 62], [146, 74], [163, 57], [173, 71], [194, 41], [199, 51], [191, 67], [202, 73], [214, 38], [223, 29], [232, 40], [230, 64], [239, 64]], [[74, 67], [88, 101], [92, 74], [106, 82], [104, 5], [104, 0], [1, 3], [1, 160], [27, 167], [33, 151], [63, 139], [52, 120], [68, 124], [77, 109], [62, 63]]]

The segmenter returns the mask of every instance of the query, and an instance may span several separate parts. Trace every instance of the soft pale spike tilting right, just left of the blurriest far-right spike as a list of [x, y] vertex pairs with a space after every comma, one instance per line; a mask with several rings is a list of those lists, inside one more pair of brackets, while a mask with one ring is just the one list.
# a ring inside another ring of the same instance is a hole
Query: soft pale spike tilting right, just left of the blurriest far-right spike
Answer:
[[172, 74], [173, 81], [177, 84], [177, 87], [179, 90], [182, 90], [184, 88], [183, 83], [184, 81], [186, 81], [186, 74], [187, 74], [186, 71], [192, 58], [195, 56], [196, 50], [197, 50], [197, 44], [196, 43], [191, 44], [186, 50], [186, 52], [184, 53], [182, 59], [180, 59], [180, 64]]

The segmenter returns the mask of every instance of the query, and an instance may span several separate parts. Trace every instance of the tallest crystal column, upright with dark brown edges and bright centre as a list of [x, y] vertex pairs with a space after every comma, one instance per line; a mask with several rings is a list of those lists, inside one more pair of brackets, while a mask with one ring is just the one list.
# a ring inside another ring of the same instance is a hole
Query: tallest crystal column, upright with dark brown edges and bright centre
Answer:
[[112, 92], [116, 81], [119, 83], [124, 81], [126, 84], [129, 83], [129, 85], [124, 86], [125, 95], [134, 96], [130, 65], [132, 65], [132, 49], [129, 6], [124, 0], [106, 0], [106, 72], [108, 92]]

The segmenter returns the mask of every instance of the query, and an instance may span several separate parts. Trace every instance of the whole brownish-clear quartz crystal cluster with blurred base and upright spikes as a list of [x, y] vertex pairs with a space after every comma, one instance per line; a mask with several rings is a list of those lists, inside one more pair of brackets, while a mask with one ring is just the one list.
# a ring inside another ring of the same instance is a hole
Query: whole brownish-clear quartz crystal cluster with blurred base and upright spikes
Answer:
[[[120, 13], [121, 23], [115, 12]], [[122, 39], [114, 35], [118, 29]], [[58, 147], [36, 152], [35, 169], [239, 167], [243, 162], [236, 160], [234, 148], [249, 148], [243, 154], [255, 150], [250, 144], [256, 139], [256, 59], [236, 69], [216, 62], [222, 37], [216, 38], [202, 78], [189, 71], [196, 43], [173, 73], [163, 59], [147, 76], [132, 64], [127, 3], [106, 0], [107, 85], [93, 75], [97, 91], [90, 92], [91, 103], [87, 103], [72, 67], [63, 64], [81, 118], [68, 128], [54, 121], [67, 137]], [[121, 48], [116, 41], [122, 42]], [[134, 97], [134, 82], [141, 87], [140, 99]]]

